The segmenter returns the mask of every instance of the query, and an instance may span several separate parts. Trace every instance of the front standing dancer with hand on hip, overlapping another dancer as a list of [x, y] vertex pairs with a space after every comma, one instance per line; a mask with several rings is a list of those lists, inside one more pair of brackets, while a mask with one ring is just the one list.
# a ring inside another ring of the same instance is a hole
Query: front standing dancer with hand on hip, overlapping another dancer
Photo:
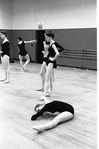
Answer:
[[59, 55], [59, 52], [56, 48], [53, 37], [54, 37], [54, 34], [51, 31], [47, 31], [45, 33], [46, 41], [50, 43], [50, 47], [48, 48], [48, 55], [47, 55], [47, 60], [46, 60], [47, 72], [46, 72], [44, 93], [40, 100], [43, 99], [43, 96], [47, 95], [49, 85], [50, 85], [50, 79], [52, 78], [52, 74], [53, 74], [53, 68], [56, 67], [56, 58]]

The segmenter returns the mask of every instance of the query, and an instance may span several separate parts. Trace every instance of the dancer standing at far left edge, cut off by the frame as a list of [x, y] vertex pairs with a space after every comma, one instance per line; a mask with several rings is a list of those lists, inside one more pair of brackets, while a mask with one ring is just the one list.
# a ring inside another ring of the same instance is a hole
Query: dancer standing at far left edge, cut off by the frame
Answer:
[[4, 84], [9, 83], [9, 78], [10, 78], [10, 67], [9, 67], [9, 58], [10, 58], [10, 53], [9, 53], [9, 40], [7, 39], [7, 32], [6, 31], [1, 31], [0, 32], [0, 37], [2, 38], [3, 42], [1, 44], [1, 62], [5, 70], [5, 79], [1, 80], [4, 82]]

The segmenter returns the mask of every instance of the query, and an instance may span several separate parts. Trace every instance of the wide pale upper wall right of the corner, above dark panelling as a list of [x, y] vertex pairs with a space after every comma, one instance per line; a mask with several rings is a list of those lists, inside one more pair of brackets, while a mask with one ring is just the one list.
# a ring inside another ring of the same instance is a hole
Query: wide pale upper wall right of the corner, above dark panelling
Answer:
[[96, 27], [96, 0], [13, 0], [13, 29]]

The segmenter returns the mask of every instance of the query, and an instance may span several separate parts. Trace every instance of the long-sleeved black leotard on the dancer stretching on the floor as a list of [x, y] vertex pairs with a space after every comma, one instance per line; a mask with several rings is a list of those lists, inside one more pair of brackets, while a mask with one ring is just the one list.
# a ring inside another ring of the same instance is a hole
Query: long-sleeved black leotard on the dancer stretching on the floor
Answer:
[[48, 104], [45, 104], [45, 106], [35, 115], [31, 117], [31, 120], [35, 120], [39, 116], [41, 116], [44, 112], [65, 112], [68, 111], [74, 115], [74, 108], [72, 105], [62, 102], [62, 101], [52, 101]]

